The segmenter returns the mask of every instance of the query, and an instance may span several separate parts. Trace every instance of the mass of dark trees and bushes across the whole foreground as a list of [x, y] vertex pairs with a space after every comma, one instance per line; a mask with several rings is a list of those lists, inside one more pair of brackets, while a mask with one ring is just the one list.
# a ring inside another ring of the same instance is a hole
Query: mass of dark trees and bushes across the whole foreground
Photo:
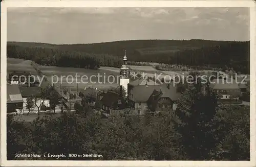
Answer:
[[[66, 155], [58, 160], [250, 159], [249, 107], [220, 106], [200, 82], [187, 86], [174, 115], [103, 118], [86, 100], [76, 105], [76, 112], [30, 123], [7, 115], [8, 159], [20, 159], [15, 153]], [[103, 157], [68, 157], [72, 153]]]

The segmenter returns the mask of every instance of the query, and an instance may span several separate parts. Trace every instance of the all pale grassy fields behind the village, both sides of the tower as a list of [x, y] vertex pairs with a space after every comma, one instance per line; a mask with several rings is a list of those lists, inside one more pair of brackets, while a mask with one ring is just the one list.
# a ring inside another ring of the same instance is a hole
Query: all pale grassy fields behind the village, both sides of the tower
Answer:
[[[32, 75], [37, 77], [35, 69], [30, 65], [30, 60], [7, 58], [7, 76], [10, 71], [26, 71], [30, 72]], [[119, 81], [117, 76], [119, 75], [119, 68], [115, 67], [100, 67], [97, 70], [84, 69], [84, 68], [72, 68], [72, 67], [56, 67], [56, 66], [42, 66], [38, 65], [38, 68], [47, 77], [50, 83], [54, 83], [57, 87], [68, 87], [71, 88], [72, 92], [84, 90], [84, 87], [95, 86], [98, 89], [108, 89], [110, 87], [117, 87]], [[174, 76], [174, 75], [188, 75], [188, 71], [161, 71], [156, 70], [153, 66], [137, 66], [130, 65], [131, 71], [140, 71], [147, 74], [148, 77], [154, 77], [155, 74], [162, 74], [159, 79], [164, 76]], [[206, 73], [212, 70], [202, 70]], [[225, 73], [221, 72], [226, 75]], [[77, 76], [77, 80], [76, 80]], [[83, 76], [83, 78], [82, 78]], [[100, 76], [100, 77], [97, 77]], [[113, 77], [115, 77], [115, 82], [113, 82]], [[62, 77], [62, 79], [61, 79]], [[88, 77], [88, 78], [86, 78]], [[91, 77], [91, 79], [90, 79]], [[108, 82], [108, 77], [109, 81]], [[105, 82], [104, 79], [105, 78]], [[91, 81], [91, 82], [89, 82]], [[42, 82], [41, 86], [47, 85], [47, 82]]]

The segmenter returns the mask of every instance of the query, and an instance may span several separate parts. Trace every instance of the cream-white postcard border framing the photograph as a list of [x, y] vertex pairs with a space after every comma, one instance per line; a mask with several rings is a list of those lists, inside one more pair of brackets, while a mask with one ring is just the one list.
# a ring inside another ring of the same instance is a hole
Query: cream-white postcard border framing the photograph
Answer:
[[[253, 1], [3, 1], [1, 3], [1, 166], [256, 166], [256, 3]], [[249, 7], [250, 8], [250, 161], [58, 161], [6, 157], [6, 76], [8, 7]]]

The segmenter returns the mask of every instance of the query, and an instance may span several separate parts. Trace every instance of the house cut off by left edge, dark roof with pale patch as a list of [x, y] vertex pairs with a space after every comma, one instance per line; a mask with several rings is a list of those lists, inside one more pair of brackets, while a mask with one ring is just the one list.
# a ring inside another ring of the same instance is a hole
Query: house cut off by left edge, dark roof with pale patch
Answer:
[[7, 113], [17, 112], [18, 109], [23, 109], [22, 94], [19, 91], [18, 85], [7, 84]]

